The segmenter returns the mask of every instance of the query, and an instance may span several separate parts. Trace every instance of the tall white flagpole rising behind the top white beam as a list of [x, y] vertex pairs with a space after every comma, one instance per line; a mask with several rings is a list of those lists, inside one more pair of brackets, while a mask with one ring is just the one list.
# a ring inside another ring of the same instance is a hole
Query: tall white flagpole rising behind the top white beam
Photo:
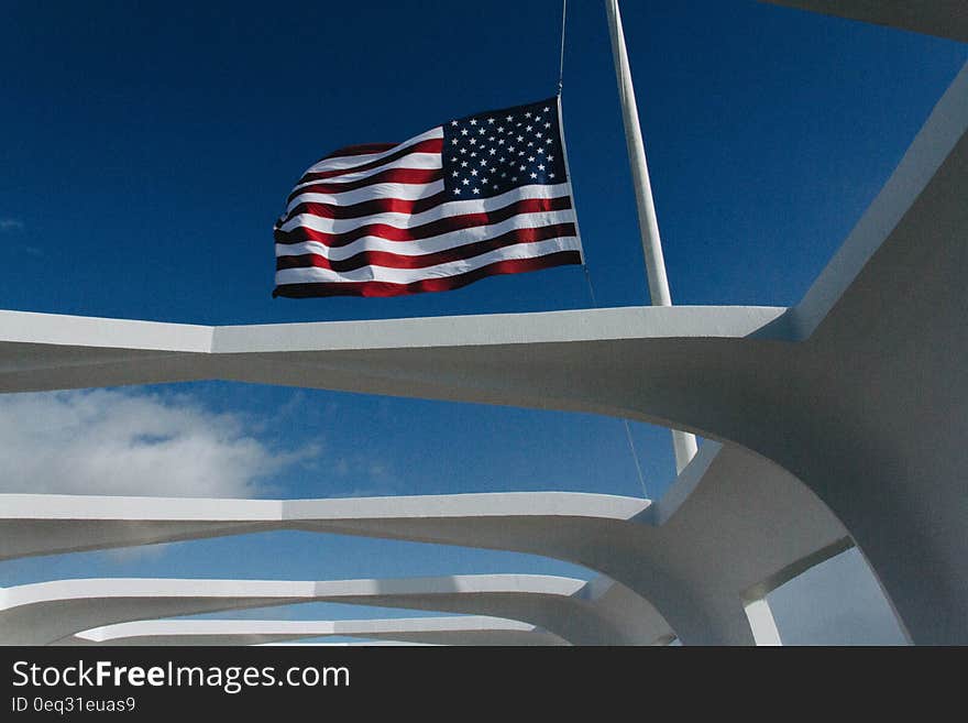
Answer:
[[[669, 280], [666, 277], [666, 261], [662, 258], [662, 243], [659, 238], [659, 221], [656, 218], [656, 204], [652, 200], [652, 186], [649, 183], [649, 168], [646, 165], [646, 146], [642, 143], [635, 88], [628, 67], [622, 15], [618, 12], [618, 0], [605, 0], [605, 9], [608, 13], [608, 35], [612, 39], [612, 55], [615, 58], [615, 77], [618, 80], [618, 99], [622, 103], [625, 143], [628, 147], [628, 162], [631, 166], [635, 187], [639, 232], [641, 233], [642, 253], [646, 258], [646, 273], [649, 280], [649, 295], [652, 306], [672, 306]], [[678, 472], [682, 472], [696, 453], [695, 435], [673, 429], [672, 448], [675, 451], [675, 469]]]

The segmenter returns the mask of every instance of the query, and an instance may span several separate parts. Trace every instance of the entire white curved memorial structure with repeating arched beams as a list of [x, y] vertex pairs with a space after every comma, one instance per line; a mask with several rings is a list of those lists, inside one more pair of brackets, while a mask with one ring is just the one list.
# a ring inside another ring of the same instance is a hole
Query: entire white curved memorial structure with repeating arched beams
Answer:
[[[782, 0], [968, 41], [958, 3]], [[916, 11], [910, 8], [916, 4]], [[0, 643], [779, 642], [765, 596], [856, 546], [914, 644], [968, 644], [968, 67], [791, 308], [651, 306], [201, 327], [0, 311], [0, 392], [191, 380], [590, 412], [706, 441], [658, 502], [0, 495], [0, 559], [298, 529], [596, 570], [411, 580], [59, 580], [0, 590]], [[158, 620], [309, 601], [464, 613]]]

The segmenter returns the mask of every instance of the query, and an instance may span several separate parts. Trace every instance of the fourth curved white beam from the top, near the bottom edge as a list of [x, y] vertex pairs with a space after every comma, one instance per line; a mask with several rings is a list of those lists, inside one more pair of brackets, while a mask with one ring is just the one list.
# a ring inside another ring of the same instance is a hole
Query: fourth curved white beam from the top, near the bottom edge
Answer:
[[536, 625], [482, 615], [337, 621], [151, 620], [95, 627], [64, 643], [267, 645], [332, 636], [420, 645], [568, 645]]

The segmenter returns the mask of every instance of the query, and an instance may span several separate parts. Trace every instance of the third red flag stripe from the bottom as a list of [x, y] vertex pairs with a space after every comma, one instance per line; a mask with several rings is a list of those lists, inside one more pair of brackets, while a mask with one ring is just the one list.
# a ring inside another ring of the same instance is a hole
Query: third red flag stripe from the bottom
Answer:
[[326, 233], [323, 231], [317, 231], [300, 226], [292, 231], [276, 230], [274, 235], [276, 243], [318, 241], [330, 248], [348, 245], [356, 239], [362, 239], [364, 235], [375, 235], [381, 239], [386, 239], [387, 241], [416, 241], [418, 239], [440, 235], [441, 233], [447, 233], [449, 231], [460, 231], [462, 229], [499, 223], [501, 221], [506, 221], [519, 213], [561, 211], [569, 208], [571, 208], [571, 198], [569, 196], [560, 196], [558, 198], [527, 198], [493, 211], [451, 216], [430, 221], [429, 223], [424, 223], [422, 226], [415, 226], [409, 229], [398, 229], [395, 226], [388, 226], [386, 223], [369, 223], [344, 233]]

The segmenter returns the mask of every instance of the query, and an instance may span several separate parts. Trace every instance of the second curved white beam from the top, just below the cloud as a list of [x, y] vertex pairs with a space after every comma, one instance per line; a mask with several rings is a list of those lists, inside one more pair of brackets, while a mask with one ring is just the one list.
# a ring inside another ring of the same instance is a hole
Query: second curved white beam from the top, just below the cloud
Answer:
[[0, 501], [2, 557], [268, 529], [554, 557], [622, 582], [651, 603], [639, 604], [648, 609], [650, 629], [664, 616], [663, 634], [671, 635], [671, 626], [688, 644], [754, 643], [745, 606], [850, 544], [844, 527], [789, 473], [715, 442], [703, 446], [654, 505], [563, 492], [286, 501], [0, 495]]

